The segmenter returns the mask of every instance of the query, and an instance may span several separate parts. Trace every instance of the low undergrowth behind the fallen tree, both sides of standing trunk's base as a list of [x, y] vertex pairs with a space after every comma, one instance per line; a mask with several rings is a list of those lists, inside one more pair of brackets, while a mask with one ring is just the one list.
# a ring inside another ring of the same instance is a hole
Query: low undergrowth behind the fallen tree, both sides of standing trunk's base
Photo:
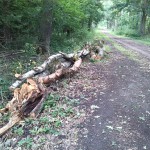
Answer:
[[[51, 54], [57, 53], [58, 51], [63, 51], [66, 53], [71, 53], [78, 51], [82, 48], [85, 42], [93, 41], [95, 37], [95, 32], [87, 31], [87, 29], [82, 29], [70, 37], [53, 36], [51, 42]], [[59, 42], [60, 41], [60, 42]], [[13, 50], [13, 53], [18, 51]], [[36, 54], [36, 45], [31, 43], [26, 43], [17, 55], [11, 55], [12, 51], [1, 52], [3, 57], [0, 57], [0, 105], [11, 99], [12, 95], [9, 91], [9, 86], [15, 81], [15, 74], [23, 74], [33, 67], [40, 65], [46, 57], [38, 56]], [[10, 54], [10, 55], [9, 55]], [[48, 56], [47, 56], [48, 57]]]

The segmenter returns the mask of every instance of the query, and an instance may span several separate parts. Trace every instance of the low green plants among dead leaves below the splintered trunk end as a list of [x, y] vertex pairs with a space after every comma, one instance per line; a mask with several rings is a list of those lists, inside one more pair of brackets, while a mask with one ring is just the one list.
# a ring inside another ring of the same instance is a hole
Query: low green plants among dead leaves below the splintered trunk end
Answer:
[[[27, 118], [22, 126], [13, 127], [13, 136], [22, 136], [18, 146], [31, 148], [34, 137], [37, 135], [59, 135], [66, 118], [77, 115], [75, 109], [77, 104], [79, 104], [79, 101], [76, 99], [61, 97], [57, 93], [49, 95], [44, 102], [43, 113], [40, 117], [35, 120]], [[28, 136], [24, 138], [27, 131]]]

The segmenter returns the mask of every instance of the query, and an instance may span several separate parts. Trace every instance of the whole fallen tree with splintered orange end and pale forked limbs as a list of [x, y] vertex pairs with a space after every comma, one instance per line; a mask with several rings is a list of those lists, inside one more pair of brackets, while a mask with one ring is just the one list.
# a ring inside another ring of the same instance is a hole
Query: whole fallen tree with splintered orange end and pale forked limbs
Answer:
[[[89, 55], [91, 58], [96, 58], [95, 56], [98, 56], [99, 53], [95, 53], [90, 48], [90, 46], [86, 46], [77, 54], [60, 52], [59, 54], [52, 55], [41, 66], [18, 76], [18, 80], [10, 86], [10, 89], [14, 91], [13, 99], [8, 102], [4, 109], [0, 110], [1, 113], [9, 111], [12, 116], [8, 124], [0, 129], [0, 135], [25, 117], [37, 117], [49, 93], [45, 84], [51, 84], [63, 75], [71, 75], [77, 72], [86, 56]], [[60, 59], [61, 65], [59, 69], [50, 75], [41, 76], [50, 63]], [[26, 83], [17, 88], [25, 81]]]

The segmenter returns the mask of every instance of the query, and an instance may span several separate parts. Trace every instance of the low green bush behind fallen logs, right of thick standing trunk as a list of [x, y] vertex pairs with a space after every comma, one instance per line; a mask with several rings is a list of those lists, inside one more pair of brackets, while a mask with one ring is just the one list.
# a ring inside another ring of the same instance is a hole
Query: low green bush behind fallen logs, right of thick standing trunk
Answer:
[[70, 36], [65, 34], [53, 34], [51, 40], [52, 53], [58, 51], [70, 52], [80, 50], [83, 44], [87, 41], [92, 41], [94, 37], [94, 31], [89, 32], [87, 28], [76, 30], [71, 33]]

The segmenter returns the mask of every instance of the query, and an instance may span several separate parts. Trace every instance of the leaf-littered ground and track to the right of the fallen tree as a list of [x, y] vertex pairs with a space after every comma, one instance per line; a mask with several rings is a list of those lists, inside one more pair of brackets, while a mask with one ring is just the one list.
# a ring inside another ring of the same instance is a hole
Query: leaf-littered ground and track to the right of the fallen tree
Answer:
[[[101, 61], [84, 63], [72, 78], [57, 83], [53, 93], [59, 94], [58, 107], [64, 97], [77, 102], [74, 114], [61, 120], [59, 135], [33, 135], [31, 128], [42, 125], [34, 121], [29, 130], [29, 122], [23, 135], [11, 130], [3, 136], [1, 149], [19, 149], [18, 141], [26, 136], [30, 140], [22, 143], [34, 150], [150, 149], [149, 47], [106, 32], [99, 34], [110, 53]], [[49, 115], [48, 111], [41, 114]]]

